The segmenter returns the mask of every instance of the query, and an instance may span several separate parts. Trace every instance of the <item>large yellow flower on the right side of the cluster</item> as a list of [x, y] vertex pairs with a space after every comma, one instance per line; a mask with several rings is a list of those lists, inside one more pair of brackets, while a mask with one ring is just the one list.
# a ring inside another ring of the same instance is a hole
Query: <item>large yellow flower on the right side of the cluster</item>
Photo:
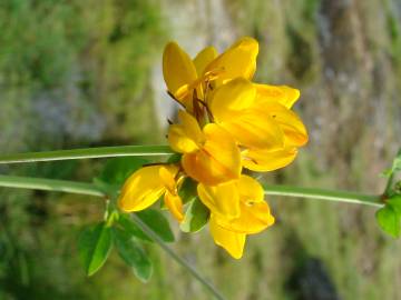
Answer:
[[255, 84], [237, 78], [217, 88], [208, 99], [214, 122], [244, 147], [243, 166], [272, 171], [292, 162], [307, 141], [300, 118], [291, 111], [300, 92], [290, 87]]

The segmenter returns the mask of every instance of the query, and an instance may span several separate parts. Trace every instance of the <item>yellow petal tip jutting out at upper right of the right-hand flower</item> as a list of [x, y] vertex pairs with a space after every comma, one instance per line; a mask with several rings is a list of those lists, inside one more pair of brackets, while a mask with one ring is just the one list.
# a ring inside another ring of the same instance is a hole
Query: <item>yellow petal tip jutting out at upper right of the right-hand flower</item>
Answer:
[[260, 101], [278, 102], [282, 106], [291, 109], [292, 106], [300, 98], [300, 90], [287, 86], [268, 86], [254, 83]]

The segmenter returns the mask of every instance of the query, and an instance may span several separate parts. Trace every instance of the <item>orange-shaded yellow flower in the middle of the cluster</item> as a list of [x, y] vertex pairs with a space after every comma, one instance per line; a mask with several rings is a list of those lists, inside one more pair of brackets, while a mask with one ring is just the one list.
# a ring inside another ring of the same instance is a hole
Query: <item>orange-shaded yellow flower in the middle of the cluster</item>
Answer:
[[170, 126], [168, 142], [183, 153], [185, 173], [209, 186], [238, 179], [241, 152], [232, 136], [215, 123], [200, 129], [196, 119], [183, 110], [178, 117], [182, 123]]

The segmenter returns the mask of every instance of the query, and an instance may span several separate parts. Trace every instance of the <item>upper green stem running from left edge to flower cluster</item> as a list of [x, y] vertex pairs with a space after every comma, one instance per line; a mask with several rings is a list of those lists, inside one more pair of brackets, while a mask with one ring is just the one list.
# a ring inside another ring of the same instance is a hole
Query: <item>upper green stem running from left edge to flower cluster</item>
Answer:
[[67, 159], [92, 159], [109, 157], [170, 156], [175, 152], [168, 146], [117, 146], [43, 152], [13, 153], [0, 156], [0, 163], [50, 161]]

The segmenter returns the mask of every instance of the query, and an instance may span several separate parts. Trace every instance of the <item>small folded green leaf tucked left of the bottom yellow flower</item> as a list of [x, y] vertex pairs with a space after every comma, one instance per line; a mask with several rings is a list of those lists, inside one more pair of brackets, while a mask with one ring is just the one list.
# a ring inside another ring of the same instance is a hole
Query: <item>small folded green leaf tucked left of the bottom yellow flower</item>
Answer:
[[209, 219], [209, 210], [195, 198], [185, 212], [183, 222], [179, 224], [184, 232], [196, 232], [207, 224]]

